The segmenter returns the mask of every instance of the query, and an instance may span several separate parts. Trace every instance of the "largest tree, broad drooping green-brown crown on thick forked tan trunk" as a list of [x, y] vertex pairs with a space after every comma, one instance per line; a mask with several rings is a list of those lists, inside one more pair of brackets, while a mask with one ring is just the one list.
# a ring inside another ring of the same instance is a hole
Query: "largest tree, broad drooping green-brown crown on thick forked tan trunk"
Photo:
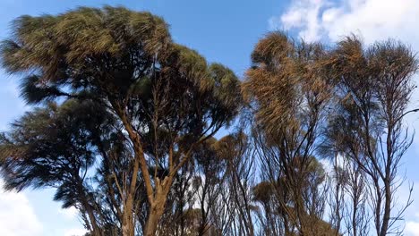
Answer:
[[[90, 101], [123, 128], [131, 152], [120, 188], [123, 235], [135, 233], [138, 175], [149, 207], [143, 233], [154, 235], [176, 173], [194, 147], [234, 118], [241, 101], [233, 72], [175, 44], [161, 18], [123, 7], [21, 16], [1, 56], [7, 72], [23, 77], [28, 103]], [[10, 176], [19, 171], [3, 169]]]

